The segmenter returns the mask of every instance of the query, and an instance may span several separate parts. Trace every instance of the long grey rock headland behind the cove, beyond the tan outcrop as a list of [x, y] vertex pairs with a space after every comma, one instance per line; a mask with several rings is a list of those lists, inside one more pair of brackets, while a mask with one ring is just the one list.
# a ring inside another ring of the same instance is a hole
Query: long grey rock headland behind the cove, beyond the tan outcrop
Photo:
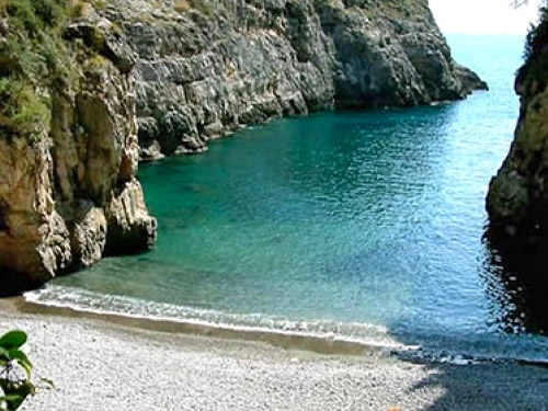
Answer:
[[281, 116], [487, 88], [453, 60], [427, 0], [117, 0], [101, 13], [138, 54], [142, 159]]

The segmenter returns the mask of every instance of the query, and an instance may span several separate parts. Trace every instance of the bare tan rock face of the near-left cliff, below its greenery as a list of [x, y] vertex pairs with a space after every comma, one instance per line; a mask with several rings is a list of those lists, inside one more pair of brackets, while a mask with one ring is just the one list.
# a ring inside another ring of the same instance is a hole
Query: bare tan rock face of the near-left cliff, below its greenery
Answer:
[[31, 140], [0, 136], [0, 290], [14, 278], [41, 283], [105, 252], [155, 243], [156, 220], [135, 178], [135, 59], [112, 24], [95, 18], [66, 32], [84, 46], [77, 79], [47, 90], [50, 124]]

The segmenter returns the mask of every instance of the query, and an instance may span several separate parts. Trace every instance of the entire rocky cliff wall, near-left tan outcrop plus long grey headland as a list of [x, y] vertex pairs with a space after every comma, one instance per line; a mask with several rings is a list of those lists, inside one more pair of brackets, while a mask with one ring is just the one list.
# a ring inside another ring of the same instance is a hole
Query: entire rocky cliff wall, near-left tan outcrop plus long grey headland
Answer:
[[139, 157], [484, 88], [427, 0], [0, 0], [0, 292], [149, 249]]

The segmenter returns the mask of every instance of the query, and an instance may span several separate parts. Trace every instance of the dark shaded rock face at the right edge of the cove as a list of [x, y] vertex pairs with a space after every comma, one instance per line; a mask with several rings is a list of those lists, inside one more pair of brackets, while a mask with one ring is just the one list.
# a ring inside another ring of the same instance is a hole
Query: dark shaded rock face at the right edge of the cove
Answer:
[[491, 228], [529, 244], [548, 239], [547, 44], [546, 39], [537, 44], [518, 72], [515, 90], [521, 114], [515, 138], [487, 198]]

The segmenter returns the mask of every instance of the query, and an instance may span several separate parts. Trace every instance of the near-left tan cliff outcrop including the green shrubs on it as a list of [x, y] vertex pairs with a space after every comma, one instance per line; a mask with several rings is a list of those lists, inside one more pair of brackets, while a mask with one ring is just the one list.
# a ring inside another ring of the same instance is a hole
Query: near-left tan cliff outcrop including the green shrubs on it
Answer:
[[80, 23], [64, 13], [41, 0], [0, 10], [1, 292], [156, 239], [135, 178], [133, 52], [91, 8]]

